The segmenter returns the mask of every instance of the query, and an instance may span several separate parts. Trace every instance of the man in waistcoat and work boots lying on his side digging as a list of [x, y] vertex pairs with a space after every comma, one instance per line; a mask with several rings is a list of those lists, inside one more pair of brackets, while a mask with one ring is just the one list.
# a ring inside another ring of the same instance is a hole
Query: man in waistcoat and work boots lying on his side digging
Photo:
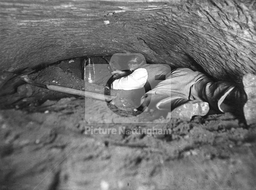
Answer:
[[194, 115], [206, 115], [210, 107], [223, 113], [243, 112], [248, 125], [256, 123], [256, 76], [253, 74], [243, 76], [244, 89], [240, 90], [230, 82], [214, 82], [198, 71], [188, 68], [170, 71], [161, 64], [146, 64], [139, 57], [129, 61], [128, 67], [130, 72], [112, 72], [115, 80], [111, 88], [144, 87], [143, 109], [167, 110], [172, 117], [191, 119]]

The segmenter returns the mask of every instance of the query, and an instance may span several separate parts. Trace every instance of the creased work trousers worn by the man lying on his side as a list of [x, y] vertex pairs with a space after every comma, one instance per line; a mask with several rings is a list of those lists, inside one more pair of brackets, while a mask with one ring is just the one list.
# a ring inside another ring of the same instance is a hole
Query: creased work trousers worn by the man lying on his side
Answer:
[[175, 102], [178, 104], [179, 99], [198, 99], [208, 102], [215, 110], [226, 112], [229, 111], [229, 107], [223, 103], [223, 100], [234, 88], [235, 85], [230, 82], [213, 82], [201, 72], [178, 68], [171, 71], [164, 81], [148, 91], [141, 102], [149, 108], [157, 107], [158, 109], [161, 109], [159, 107], [161, 103], [169, 103], [174, 109]]

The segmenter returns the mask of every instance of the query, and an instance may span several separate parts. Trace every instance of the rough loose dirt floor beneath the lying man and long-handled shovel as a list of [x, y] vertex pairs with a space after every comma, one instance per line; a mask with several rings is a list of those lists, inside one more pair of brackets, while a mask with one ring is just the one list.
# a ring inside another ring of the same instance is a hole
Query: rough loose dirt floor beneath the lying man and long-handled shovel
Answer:
[[[92, 61], [94, 84], [82, 79], [84, 58], [19, 74], [103, 94], [108, 64], [100, 57]], [[138, 91], [112, 91], [116, 108], [21, 83], [17, 76], [2, 73], [0, 81], [1, 189], [256, 189], [256, 127], [230, 113], [169, 121], [152, 111], [138, 115], [129, 104]], [[95, 135], [86, 132], [89, 127], [155, 127], [171, 134]]]

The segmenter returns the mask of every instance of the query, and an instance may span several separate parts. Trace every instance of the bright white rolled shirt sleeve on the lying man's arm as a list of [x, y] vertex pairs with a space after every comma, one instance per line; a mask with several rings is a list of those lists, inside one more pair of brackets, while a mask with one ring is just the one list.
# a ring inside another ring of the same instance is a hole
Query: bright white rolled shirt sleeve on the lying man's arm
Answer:
[[139, 68], [133, 71], [128, 76], [121, 77], [114, 80], [111, 84], [111, 88], [115, 90], [134, 90], [143, 88], [147, 82], [147, 70], [145, 68]]

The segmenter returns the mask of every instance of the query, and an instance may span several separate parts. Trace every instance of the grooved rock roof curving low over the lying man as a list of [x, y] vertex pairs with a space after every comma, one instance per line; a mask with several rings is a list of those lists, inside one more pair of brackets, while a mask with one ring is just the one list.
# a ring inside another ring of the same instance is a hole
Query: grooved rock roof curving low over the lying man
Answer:
[[142, 53], [216, 79], [256, 73], [255, 1], [1, 2], [0, 69], [86, 55]]

